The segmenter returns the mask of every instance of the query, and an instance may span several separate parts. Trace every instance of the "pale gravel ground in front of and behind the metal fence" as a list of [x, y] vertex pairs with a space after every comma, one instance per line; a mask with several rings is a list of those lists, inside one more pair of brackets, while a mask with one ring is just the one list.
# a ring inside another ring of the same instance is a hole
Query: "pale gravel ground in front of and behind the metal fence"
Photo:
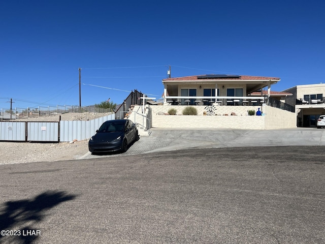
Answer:
[[[16, 119], [15, 121], [59, 121], [59, 116], [61, 116], [61, 120], [91, 120], [107, 114], [109, 113], [66, 113]], [[88, 152], [88, 140], [75, 143], [0, 142], [0, 148], [0, 164], [53, 162], [82, 157]]]

